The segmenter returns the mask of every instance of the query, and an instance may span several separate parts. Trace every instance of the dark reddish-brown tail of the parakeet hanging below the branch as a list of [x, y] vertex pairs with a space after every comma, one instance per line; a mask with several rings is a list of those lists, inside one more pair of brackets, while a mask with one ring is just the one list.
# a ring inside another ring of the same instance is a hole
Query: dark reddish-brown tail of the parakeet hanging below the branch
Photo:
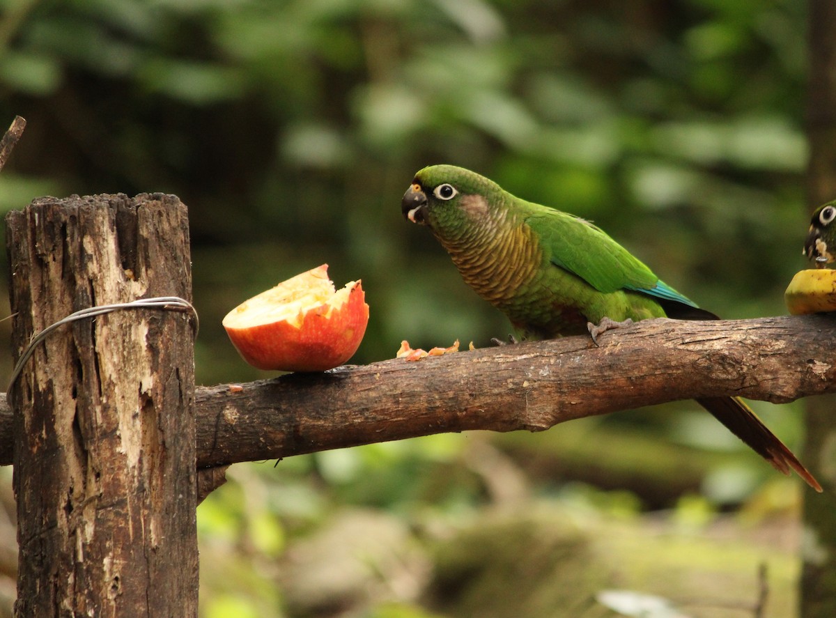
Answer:
[[810, 487], [817, 492], [822, 491], [822, 486], [807, 468], [803, 467], [793, 452], [769, 431], [743, 401], [737, 397], [703, 397], [696, 401], [778, 471], [789, 474], [792, 468]]

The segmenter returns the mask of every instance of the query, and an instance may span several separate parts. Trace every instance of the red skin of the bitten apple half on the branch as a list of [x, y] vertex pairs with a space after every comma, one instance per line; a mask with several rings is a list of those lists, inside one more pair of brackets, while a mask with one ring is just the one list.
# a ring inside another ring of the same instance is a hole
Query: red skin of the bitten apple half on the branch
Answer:
[[229, 328], [227, 335], [244, 360], [257, 369], [325, 371], [344, 364], [363, 340], [369, 305], [360, 282], [349, 299], [333, 309], [321, 304], [309, 309], [299, 328], [286, 321], [248, 328]]

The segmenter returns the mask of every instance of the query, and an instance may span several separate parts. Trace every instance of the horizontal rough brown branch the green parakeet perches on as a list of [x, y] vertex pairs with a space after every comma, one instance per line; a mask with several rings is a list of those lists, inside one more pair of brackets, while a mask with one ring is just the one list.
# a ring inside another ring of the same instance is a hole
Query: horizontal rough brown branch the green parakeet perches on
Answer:
[[[836, 392], [836, 315], [645, 320], [587, 337], [384, 360], [196, 390], [199, 467], [433, 433], [539, 431], [696, 396], [777, 403]], [[232, 348], [230, 349], [232, 354]], [[0, 408], [0, 464], [11, 462]]]

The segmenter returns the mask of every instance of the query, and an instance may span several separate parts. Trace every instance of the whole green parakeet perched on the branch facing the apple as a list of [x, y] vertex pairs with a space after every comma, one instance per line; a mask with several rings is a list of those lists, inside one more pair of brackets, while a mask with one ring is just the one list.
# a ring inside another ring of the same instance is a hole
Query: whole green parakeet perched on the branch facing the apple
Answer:
[[[716, 319], [660, 281], [599, 227], [526, 202], [484, 176], [456, 166], [425, 167], [401, 202], [411, 222], [429, 227], [462, 278], [528, 340], [591, 332], [605, 319]], [[697, 400], [784, 473], [821, 487], [788, 447], [741, 400]]]

